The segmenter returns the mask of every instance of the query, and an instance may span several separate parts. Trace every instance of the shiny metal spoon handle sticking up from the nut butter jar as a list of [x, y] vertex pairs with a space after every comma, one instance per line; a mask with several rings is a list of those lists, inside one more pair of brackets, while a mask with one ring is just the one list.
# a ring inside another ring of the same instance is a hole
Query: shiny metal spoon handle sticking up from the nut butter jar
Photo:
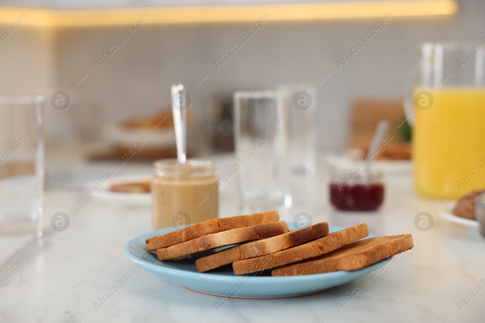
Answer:
[[171, 90], [177, 161], [178, 164], [184, 165], [187, 160], [187, 94], [182, 84], [172, 85]]

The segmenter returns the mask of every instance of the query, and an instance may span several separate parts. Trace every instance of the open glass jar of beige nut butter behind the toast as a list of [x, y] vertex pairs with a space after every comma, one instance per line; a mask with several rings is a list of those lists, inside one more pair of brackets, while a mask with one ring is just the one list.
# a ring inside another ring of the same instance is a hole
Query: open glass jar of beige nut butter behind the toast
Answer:
[[219, 215], [218, 178], [215, 166], [206, 159], [177, 159], [155, 162], [152, 182], [152, 223], [158, 230], [182, 227]]

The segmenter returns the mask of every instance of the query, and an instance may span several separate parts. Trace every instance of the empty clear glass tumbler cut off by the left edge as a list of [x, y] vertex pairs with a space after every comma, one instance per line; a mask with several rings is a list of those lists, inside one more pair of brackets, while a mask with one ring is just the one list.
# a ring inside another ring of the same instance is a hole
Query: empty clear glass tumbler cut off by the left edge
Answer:
[[44, 98], [0, 97], [0, 235], [42, 236]]

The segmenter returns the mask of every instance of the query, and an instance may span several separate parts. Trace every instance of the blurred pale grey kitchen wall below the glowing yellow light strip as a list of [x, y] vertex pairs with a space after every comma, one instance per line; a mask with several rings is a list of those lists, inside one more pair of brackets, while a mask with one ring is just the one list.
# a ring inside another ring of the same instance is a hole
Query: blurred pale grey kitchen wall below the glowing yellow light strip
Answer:
[[[56, 111], [47, 104], [49, 141], [56, 142], [79, 136], [96, 140], [79, 119], [101, 133], [106, 123], [169, 105], [169, 87], [175, 82], [186, 85], [194, 111], [204, 121], [210, 98], [219, 92], [269, 89], [283, 82], [313, 84], [319, 95], [318, 115], [333, 129], [317, 120], [318, 145], [339, 149], [345, 146], [339, 137], [347, 138], [353, 100], [403, 96], [407, 85], [402, 78], [412, 65], [416, 44], [455, 40], [476, 43], [485, 36], [485, 2], [462, 0], [459, 5], [459, 15], [393, 17], [341, 69], [335, 61], [361, 42], [359, 37], [370, 31], [378, 18], [312, 22], [269, 19], [219, 69], [214, 60], [235, 42], [241, 44], [238, 37], [249, 31], [252, 23], [229, 22], [230, 27], [224, 22], [145, 24], [98, 69], [93, 61], [114, 42], [120, 43], [116, 37], [129, 26], [56, 31], [26, 27], [0, 45], [0, 95], [41, 93], [49, 100], [57, 90], [69, 93], [69, 109]], [[5, 28], [0, 26], [0, 30]], [[189, 140], [204, 144], [211, 131], [195, 120], [196, 130]]]

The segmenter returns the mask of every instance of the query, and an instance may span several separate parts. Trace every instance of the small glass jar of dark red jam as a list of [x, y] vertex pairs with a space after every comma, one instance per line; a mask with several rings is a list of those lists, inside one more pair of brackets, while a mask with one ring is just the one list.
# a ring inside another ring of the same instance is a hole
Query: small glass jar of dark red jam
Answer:
[[339, 210], [374, 211], [384, 200], [380, 173], [369, 169], [333, 170], [330, 201]]

